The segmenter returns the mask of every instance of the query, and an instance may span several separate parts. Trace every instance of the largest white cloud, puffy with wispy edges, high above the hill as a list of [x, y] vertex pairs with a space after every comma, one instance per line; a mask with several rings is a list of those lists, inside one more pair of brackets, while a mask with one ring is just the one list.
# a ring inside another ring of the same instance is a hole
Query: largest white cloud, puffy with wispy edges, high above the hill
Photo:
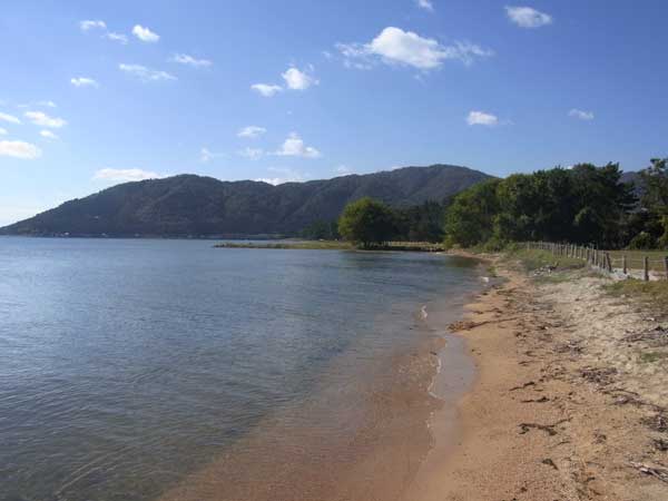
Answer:
[[468, 41], [443, 46], [432, 38], [387, 27], [370, 43], [337, 43], [347, 67], [369, 69], [379, 59], [387, 65], [411, 66], [420, 70], [441, 67], [445, 60], [470, 65], [475, 58], [490, 57], [491, 50]]

